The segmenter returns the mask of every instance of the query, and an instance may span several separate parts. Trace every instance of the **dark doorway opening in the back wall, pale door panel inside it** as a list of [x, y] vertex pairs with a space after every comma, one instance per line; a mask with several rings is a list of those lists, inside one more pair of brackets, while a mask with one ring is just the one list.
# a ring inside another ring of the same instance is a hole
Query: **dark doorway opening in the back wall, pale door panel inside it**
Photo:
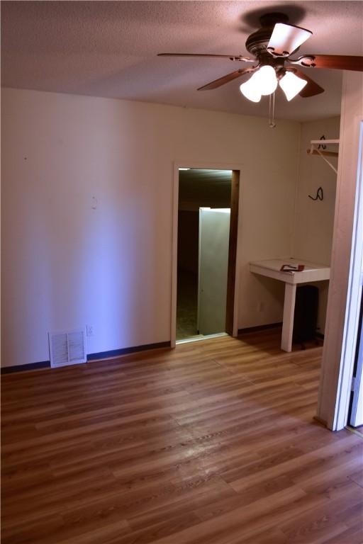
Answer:
[[233, 334], [239, 177], [179, 169], [178, 343]]

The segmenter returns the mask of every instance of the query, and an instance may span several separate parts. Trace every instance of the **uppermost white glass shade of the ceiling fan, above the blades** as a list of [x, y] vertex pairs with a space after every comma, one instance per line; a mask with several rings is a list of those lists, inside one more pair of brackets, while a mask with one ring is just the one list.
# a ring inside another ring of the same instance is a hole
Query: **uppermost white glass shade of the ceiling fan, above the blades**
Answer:
[[274, 57], [289, 57], [312, 34], [306, 28], [276, 23], [267, 45], [267, 51]]

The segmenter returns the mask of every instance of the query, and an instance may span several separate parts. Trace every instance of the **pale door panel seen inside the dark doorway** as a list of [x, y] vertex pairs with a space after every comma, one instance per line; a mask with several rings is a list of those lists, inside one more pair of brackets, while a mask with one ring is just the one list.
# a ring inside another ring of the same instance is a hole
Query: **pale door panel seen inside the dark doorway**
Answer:
[[199, 334], [225, 331], [230, 208], [199, 208]]

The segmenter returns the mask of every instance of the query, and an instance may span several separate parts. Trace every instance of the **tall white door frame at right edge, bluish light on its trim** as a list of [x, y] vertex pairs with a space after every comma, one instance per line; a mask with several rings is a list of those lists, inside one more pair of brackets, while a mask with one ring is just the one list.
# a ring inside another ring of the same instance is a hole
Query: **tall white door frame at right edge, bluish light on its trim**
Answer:
[[[362, 90], [362, 72], [343, 72], [333, 249], [316, 416], [332, 431], [340, 431], [347, 424], [347, 401], [352, 386], [353, 364], [345, 351], [345, 340], [352, 285], [350, 266], [357, 203], [359, 130], [363, 121]], [[362, 157], [360, 161], [362, 176]]]

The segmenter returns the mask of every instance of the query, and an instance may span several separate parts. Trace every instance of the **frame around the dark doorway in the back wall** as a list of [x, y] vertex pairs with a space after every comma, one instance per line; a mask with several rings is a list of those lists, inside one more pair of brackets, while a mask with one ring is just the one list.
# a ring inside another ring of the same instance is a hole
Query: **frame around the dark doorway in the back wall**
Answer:
[[238, 244], [238, 217], [241, 211], [241, 171], [242, 164], [226, 164], [216, 162], [195, 162], [193, 160], [174, 161], [172, 191], [172, 297], [170, 315], [170, 345], [177, 344], [177, 268], [178, 268], [178, 211], [179, 211], [179, 168], [196, 168], [202, 170], [232, 170], [231, 210], [230, 210], [230, 242], [228, 249], [228, 283], [226, 329], [230, 336], [238, 335], [238, 291], [240, 268], [240, 248]]

